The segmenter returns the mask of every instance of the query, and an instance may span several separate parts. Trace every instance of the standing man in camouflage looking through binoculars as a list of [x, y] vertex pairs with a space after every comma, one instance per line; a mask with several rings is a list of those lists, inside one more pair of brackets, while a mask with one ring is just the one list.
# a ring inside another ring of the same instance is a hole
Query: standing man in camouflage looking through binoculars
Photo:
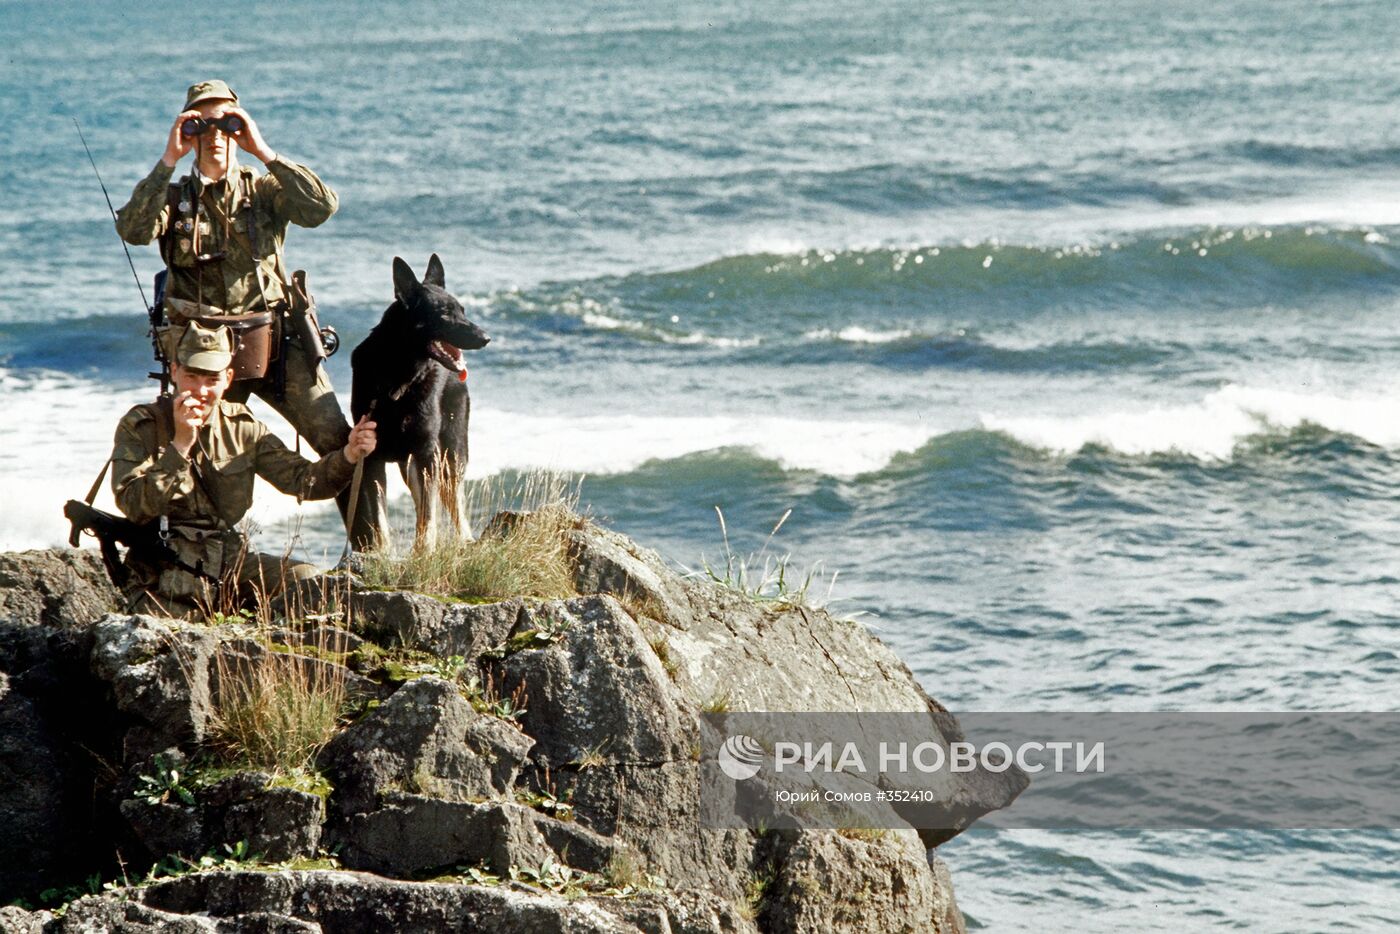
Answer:
[[[244, 150], [266, 174], [239, 165]], [[175, 165], [195, 153], [195, 165], [171, 181]], [[227, 83], [192, 85], [171, 125], [165, 151], [118, 211], [116, 230], [132, 244], [160, 242], [167, 274], [161, 307], [178, 342], [190, 321], [228, 325], [239, 353], [231, 402], [258, 395], [318, 454], [343, 448], [350, 424], [321, 365], [315, 309], [301, 273], [287, 273], [287, 225], [316, 227], [339, 206], [336, 193], [305, 165], [279, 155]], [[161, 353], [168, 361], [168, 349]], [[347, 500], [340, 497], [342, 515]]]

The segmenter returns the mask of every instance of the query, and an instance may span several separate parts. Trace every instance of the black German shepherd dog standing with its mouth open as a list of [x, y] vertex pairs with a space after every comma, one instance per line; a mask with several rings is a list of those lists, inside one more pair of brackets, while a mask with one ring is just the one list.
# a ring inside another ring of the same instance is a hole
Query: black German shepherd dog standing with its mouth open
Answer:
[[420, 283], [406, 262], [393, 258], [393, 304], [350, 354], [350, 412], [370, 414], [378, 444], [364, 459], [360, 500], [350, 541], [356, 550], [382, 543], [388, 534], [385, 465], [399, 465], [417, 513], [416, 545], [437, 534], [437, 507], [447, 507], [462, 527], [462, 480], [466, 476], [466, 391], [463, 350], [490, 342], [466, 319], [462, 302], [448, 294], [442, 260], [428, 259]]

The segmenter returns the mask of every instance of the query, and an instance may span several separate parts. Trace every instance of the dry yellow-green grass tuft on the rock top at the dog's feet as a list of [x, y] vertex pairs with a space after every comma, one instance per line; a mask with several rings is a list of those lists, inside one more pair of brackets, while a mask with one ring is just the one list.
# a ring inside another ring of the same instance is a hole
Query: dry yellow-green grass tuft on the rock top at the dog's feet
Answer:
[[364, 583], [458, 599], [575, 597], [568, 532], [582, 522], [578, 485], [536, 471], [514, 486], [491, 478], [469, 487], [469, 515], [496, 510], [480, 538], [444, 536], [407, 552], [391, 541], [363, 556]]

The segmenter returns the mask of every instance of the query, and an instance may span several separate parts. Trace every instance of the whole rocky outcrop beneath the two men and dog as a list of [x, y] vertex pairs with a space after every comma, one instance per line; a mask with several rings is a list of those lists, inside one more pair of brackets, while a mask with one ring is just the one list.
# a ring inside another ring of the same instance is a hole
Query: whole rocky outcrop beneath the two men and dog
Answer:
[[[956, 731], [889, 648], [592, 524], [570, 553], [568, 599], [344, 583], [262, 626], [113, 613], [92, 552], [0, 556], [0, 931], [962, 930], [951, 832], [700, 826], [704, 711]], [[256, 671], [342, 692], [314, 767], [220, 759]], [[963, 826], [1022, 787], [946, 805]]]

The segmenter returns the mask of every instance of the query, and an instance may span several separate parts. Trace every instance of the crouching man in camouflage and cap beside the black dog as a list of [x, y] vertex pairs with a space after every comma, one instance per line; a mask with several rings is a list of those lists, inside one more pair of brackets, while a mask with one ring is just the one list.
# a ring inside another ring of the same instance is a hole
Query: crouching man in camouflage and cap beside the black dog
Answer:
[[298, 500], [326, 500], [374, 451], [367, 419], [344, 448], [315, 463], [288, 451], [246, 406], [224, 400], [232, 357], [227, 328], [190, 323], [171, 354], [175, 398], [133, 407], [116, 428], [116, 504], [134, 522], [160, 522], [179, 559], [153, 566], [127, 557], [130, 612], [230, 611], [315, 574], [311, 564], [246, 550], [234, 525], [252, 506], [253, 476]]

